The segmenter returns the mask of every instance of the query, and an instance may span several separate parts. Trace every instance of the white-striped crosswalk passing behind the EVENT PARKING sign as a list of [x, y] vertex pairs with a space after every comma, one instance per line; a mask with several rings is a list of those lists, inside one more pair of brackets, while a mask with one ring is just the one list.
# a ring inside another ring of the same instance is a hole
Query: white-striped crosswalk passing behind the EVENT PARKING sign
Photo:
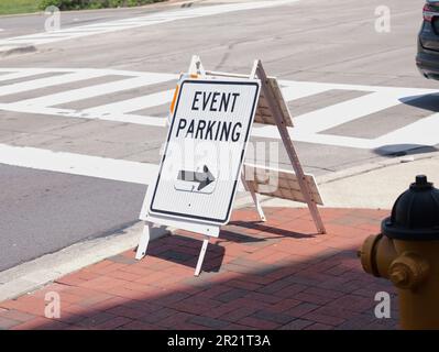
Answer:
[[[94, 79], [98, 78], [103, 82], [94, 82]], [[0, 68], [0, 110], [46, 114], [61, 119], [107, 120], [165, 127], [164, 117], [177, 78], [176, 74], [116, 69]], [[293, 80], [279, 80], [279, 84], [288, 103], [305, 98], [317, 100], [322, 94], [334, 90], [361, 92], [360, 97], [316, 108], [298, 116], [293, 109], [295, 127], [290, 129], [290, 135], [295, 141], [364, 150], [391, 145], [394, 152], [410, 146], [439, 144], [439, 116], [435, 111], [375, 138], [333, 133], [338, 127], [367, 119], [422, 97], [437, 95], [439, 90]], [[147, 92], [142, 94], [142, 89], [147, 89]], [[87, 102], [86, 107], [81, 107], [84, 101]], [[149, 110], [154, 113], [149, 114]], [[383, 121], [385, 119], [383, 116]], [[373, 125], [371, 129], [373, 130]], [[252, 135], [279, 139], [276, 128], [270, 125], [255, 127]]]

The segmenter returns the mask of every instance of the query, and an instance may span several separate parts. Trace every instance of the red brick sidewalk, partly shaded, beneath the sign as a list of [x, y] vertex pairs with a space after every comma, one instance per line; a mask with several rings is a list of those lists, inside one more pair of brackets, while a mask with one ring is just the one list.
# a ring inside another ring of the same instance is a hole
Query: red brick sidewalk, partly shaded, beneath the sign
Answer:
[[[387, 211], [322, 209], [316, 234], [307, 209], [237, 210], [194, 277], [200, 237], [178, 231], [0, 304], [0, 329], [395, 329], [376, 319], [376, 292], [395, 290], [362, 272], [356, 250]], [[44, 318], [45, 294], [61, 319]]]

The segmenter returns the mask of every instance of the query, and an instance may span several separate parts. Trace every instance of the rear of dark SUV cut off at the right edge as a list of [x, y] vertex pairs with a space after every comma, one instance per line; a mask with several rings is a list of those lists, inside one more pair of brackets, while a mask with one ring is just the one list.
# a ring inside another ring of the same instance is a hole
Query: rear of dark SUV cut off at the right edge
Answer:
[[439, 0], [427, 0], [422, 15], [416, 65], [425, 77], [439, 79]]

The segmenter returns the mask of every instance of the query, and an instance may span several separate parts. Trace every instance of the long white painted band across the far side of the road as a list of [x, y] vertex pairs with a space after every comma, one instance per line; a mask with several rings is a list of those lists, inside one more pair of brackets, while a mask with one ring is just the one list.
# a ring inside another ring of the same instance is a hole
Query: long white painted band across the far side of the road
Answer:
[[80, 38], [84, 36], [112, 33], [123, 30], [132, 30], [142, 26], [156, 25], [177, 20], [196, 19], [229, 12], [246, 10], [259, 10], [272, 7], [290, 4], [299, 0], [277, 0], [277, 1], [252, 1], [239, 3], [226, 3], [209, 7], [180, 8], [176, 10], [155, 12], [143, 16], [99, 22], [88, 25], [59, 29], [56, 31], [42, 32], [22, 36], [0, 40], [0, 54], [11, 50], [39, 46], [42, 44], [56, 43], [61, 41]]

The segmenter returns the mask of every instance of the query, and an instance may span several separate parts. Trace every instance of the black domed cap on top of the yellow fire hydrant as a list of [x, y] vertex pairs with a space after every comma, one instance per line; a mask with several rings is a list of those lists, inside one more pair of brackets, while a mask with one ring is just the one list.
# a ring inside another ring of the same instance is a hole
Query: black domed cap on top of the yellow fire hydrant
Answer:
[[397, 240], [439, 240], [439, 189], [427, 176], [416, 176], [416, 182], [396, 199], [392, 216], [383, 220], [381, 230]]

